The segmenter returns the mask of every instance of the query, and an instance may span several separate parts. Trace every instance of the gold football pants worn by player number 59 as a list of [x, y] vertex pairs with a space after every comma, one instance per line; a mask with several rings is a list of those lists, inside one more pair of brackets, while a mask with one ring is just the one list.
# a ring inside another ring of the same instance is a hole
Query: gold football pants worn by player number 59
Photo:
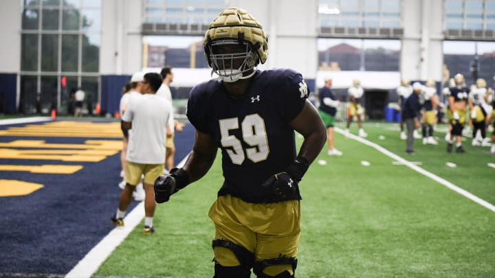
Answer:
[[[300, 238], [300, 202], [288, 200], [270, 204], [244, 202], [230, 195], [219, 196], [208, 213], [215, 226], [215, 239], [224, 238], [254, 253], [255, 262], [279, 256], [296, 257]], [[214, 248], [221, 266], [239, 266], [230, 249]], [[277, 275], [292, 266], [270, 266], [264, 272]]]

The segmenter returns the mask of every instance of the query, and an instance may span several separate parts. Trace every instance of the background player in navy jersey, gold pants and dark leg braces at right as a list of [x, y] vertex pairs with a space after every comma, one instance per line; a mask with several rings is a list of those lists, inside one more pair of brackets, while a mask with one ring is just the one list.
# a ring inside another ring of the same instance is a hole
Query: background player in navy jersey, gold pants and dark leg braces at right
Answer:
[[456, 152], [465, 152], [462, 147], [462, 131], [466, 122], [466, 105], [469, 89], [464, 86], [464, 76], [457, 73], [454, 76], [456, 86], [449, 88], [449, 111], [448, 119], [452, 129], [450, 130], [450, 140], [447, 142], [447, 152], [452, 152], [452, 145], [456, 142]]

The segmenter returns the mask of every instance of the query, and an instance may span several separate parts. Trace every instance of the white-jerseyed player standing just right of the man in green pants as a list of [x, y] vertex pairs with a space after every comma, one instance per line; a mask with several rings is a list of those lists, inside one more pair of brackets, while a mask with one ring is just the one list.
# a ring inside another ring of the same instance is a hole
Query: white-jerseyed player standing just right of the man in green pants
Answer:
[[347, 90], [349, 97], [349, 106], [347, 107], [347, 124], [346, 124], [346, 134], [349, 133], [349, 127], [353, 121], [353, 117], [358, 119], [358, 135], [360, 137], [366, 137], [368, 134], [364, 132], [362, 128], [362, 121], [364, 120], [364, 108], [362, 107], [362, 97], [364, 95], [364, 90], [362, 89], [361, 82], [359, 79], [353, 80], [353, 86]]

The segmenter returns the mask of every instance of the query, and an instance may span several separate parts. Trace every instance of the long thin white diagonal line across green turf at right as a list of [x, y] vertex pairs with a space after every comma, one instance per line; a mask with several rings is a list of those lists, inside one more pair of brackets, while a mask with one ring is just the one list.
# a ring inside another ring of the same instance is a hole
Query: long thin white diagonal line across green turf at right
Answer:
[[443, 179], [443, 178], [441, 178], [435, 174], [432, 174], [432, 173], [424, 170], [423, 168], [421, 168], [421, 167], [419, 167], [413, 163], [410, 163], [409, 161], [406, 161], [406, 159], [399, 157], [397, 154], [394, 154], [393, 152], [387, 150], [386, 148], [383, 148], [382, 146], [379, 146], [379, 145], [377, 145], [371, 141], [368, 141], [366, 139], [363, 139], [363, 138], [358, 137], [356, 135], [353, 135], [351, 133], [346, 133], [341, 128], [335, 127], [334, 130], [336, 130], [337, 132], [339, 132], [340, 134], [342, 134], [344, 136], [347, 136], [348, 138], [354, 139], [356, 141], [360, 141], [361, 143], [364, 143], [364, 145], [366, 145], [366, 146], [370, 146], [371, 148], [375, 148], [375, 150], [382, 152], [382, 154], [385, 154], [386, 156], [391, 157], [392, 159], [395, 159], [396, 161], [401, 162], [402, 164], [406, 165], [407, 167], [410, 167], [412, 170], [415, 170], [416, 172], [419, 172], [420, 174], [428, 176], [428, 178], [431, 178], [432, 180], [437, 181], [441, 185], [448, 187], [449, 189], [452, 189], [454, 192], [457, 192], [457, 193], [461, 194], [462, 196], [464, 196], [465, 198], [468, 198], [468, 199], [472, 200], [473, 202], [476, 202], [478, 205], [482, 205], [483, 207], [486, 207], [487, 209], [495, 212], [495, 206], [490, 204], [489, 202], [487, 202], [487, 201], [485, 201], [485, 200], [483, 200], [477, 196], [474, 196], [470, 192], [467, 192], [460, 187], [457, 187], [453, 183], [450, 183], [450, 181], [447, 181], [447, 180], [445, 180], [445, 179]]

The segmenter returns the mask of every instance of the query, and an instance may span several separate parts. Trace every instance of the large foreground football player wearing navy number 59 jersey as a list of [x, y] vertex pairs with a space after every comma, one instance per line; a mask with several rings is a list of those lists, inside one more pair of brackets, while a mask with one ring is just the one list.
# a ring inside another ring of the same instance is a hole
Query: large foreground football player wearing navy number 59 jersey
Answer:
[[[212, 73], [195, 86], [187, 117], [196, 128], [184, 167], [155, 181], [166, 202], [210, 169], [221, 149], [224, 182], [210, 208], [214, 277], [294, 277], [300, 238], [298, 183], [326, 142], [326, 128], [307, 100], [303, 76], [290, 69], [259, 71], [267, 38], [248, 12], [228, 8], [204, 38]], [[296, 152], [294, 130], [304, 137]]]

